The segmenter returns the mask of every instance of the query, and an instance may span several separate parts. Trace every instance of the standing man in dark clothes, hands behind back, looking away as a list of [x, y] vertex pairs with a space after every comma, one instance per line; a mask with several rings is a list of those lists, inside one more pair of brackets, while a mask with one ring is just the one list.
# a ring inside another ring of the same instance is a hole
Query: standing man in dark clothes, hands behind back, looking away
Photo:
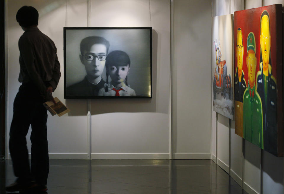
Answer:
[[[7, 191], [46, 191], [49, 173], [47, 144], [47, 110], [43, 102], [53, 99], [51, 93], [57, 87], [60, 64], [54, 42], [38, 29], [38, 11], [23, 6], [16, 15], [25, 31], [19, 39], [20, 75], [22, 85], [14, 100], [13, 119], [10, 128], [9, 149], [13, 162], [15, 183]], [[29, 165], [26, 135], [32, 126], [30, 140], [31, 167]]]

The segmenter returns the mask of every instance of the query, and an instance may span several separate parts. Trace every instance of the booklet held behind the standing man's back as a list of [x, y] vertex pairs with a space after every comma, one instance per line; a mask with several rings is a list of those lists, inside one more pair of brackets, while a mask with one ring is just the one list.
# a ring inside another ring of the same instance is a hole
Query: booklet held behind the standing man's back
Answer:
[[62, 116], [70, 112], [70, 110], [57, 97], [54, 98], [54, 101], [56, 104], [54, 104], [53, 101], [43, 103], [43, 106], [50, 112], [52, 116], [56, 114], [58, 116]]

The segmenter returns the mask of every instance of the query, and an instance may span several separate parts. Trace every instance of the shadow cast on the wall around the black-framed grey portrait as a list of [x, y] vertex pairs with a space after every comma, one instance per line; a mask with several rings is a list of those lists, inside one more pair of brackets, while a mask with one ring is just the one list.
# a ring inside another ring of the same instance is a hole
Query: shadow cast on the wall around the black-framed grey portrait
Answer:
[[[158, 34], [152, 32], [152, 97], [153, 98], [121, 98], [121, 99], [91, 99], [91, 114], [115, 112], [156, 112], [157, 98], [157, 48]], [[88, 99], [66, 99], [66, 106], [71, 110], [68, 116], [84, 116], [88, 113]], [[168, 113], [165, 112], [166, 114]]]

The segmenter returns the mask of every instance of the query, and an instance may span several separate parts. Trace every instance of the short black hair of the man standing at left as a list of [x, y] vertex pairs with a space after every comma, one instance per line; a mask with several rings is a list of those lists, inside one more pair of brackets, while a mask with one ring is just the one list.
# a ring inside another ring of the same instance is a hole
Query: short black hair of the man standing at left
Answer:
[[32, 6], [22, 6], [16, 14], [16, 19], [22, 27], [38, 25], [38, 11]]

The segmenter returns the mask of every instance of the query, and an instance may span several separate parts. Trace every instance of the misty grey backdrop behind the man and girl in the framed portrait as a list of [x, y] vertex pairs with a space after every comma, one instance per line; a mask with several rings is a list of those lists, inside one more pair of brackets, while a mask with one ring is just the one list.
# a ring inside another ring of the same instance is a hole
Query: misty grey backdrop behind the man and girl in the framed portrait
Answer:
[[[86, 75], [79, 55], [80, 42], [88, 36], [101, 36], [108, 40], [108, 53], [114, 50], [126, 52], [131, 63], [127, 80], [130, 88], [137, 96], [150, 96], [149, 29], [66, 29], [66, 87], [83, 80]], [[106, 80], [105, 68], [101, 76]]]

